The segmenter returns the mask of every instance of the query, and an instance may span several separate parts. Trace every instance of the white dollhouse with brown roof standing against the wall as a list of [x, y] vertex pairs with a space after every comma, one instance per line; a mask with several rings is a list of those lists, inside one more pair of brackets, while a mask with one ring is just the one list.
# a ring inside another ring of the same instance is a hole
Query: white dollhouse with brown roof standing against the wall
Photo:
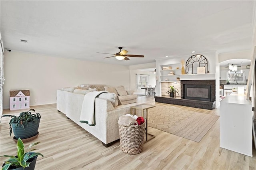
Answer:
[[29, 90], [10, 90], [10, 110], [29, 108]]

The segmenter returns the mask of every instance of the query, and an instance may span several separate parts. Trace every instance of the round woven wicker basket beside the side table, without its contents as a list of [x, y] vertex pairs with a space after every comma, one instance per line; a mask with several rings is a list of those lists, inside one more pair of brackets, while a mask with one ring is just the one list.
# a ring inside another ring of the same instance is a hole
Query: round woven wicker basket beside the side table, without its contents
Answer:
[[144, 144], [145, 123], [141, 125], [118, 124], [118, 127], [121, 150], [124, 153], [130, 155], [139, 154], [142, 152]]

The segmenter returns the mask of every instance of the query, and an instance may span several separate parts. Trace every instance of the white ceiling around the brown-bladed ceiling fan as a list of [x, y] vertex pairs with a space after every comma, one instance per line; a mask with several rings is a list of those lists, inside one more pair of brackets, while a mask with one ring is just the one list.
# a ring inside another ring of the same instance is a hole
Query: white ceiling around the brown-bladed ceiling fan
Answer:
[[[12, 50], [121, 65], [252, 47], [255, 1], [0, 1]], [[27, 43], [20, 39], [28, 40]], [[118, 61], [118, 46], [145, 55]]]

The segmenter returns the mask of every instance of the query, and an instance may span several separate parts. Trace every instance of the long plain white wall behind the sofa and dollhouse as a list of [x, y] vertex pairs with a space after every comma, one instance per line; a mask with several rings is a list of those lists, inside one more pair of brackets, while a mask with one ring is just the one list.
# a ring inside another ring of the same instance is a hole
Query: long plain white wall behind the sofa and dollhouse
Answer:
[[[4, 108], [9, 90], [30, 89], [30, 105], [56, 103], [56, 89], [84, 83], [124, 85], [129, 90], [129, 67], [66, 59], [20, 51], [4, 52]], [[37, 100], [37, 102], [35, 102]]]

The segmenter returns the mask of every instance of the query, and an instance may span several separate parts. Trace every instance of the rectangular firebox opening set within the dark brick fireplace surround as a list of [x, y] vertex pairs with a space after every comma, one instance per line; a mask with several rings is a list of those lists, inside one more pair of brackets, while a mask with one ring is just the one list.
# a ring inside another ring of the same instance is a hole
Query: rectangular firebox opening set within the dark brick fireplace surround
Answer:
[[210, 85], [184, 85], [184, 99], [211, 101]]

